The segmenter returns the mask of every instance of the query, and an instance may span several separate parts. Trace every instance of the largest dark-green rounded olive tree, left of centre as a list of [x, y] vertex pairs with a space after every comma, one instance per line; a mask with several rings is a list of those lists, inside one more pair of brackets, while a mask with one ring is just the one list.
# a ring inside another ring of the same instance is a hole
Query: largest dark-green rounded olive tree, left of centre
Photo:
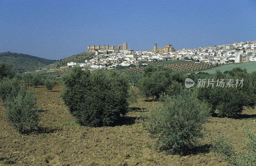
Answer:
[[80, 125], [109, 126], [127, 112], [129, 84], [117, 71], [74, 67], [63, 76], [61, 97]]

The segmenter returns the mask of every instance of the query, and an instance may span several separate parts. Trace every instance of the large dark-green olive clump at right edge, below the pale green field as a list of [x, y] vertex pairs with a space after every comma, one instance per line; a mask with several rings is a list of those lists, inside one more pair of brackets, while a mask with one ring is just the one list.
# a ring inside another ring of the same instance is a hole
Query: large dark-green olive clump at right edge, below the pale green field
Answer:
[[[221, 117], [236, 118], [239, 113], [242, 113], [243, 107], [254, 107], [256, 103], [256, 85], [254, 75], [249, 75], [246, 69], [234, 68], [225, 75], [220, 71], [216, 71], [213, 77], [208, 77], [210, 80], [217, 79], [236, 79], [243, 81], [243, 87], [200, 87], [197, 88], [197, 98], [208, 102], [212, 113], [215, 110], [219, 111]], [[208, 80], [208, 78], [206, 80]], [[207, 85], [206, 81], [205, 85]]]

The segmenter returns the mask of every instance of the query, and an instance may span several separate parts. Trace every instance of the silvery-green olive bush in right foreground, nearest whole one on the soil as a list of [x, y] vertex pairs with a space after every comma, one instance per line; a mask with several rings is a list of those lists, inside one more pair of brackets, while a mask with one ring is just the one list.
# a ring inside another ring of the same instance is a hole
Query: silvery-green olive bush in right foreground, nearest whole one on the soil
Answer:
[[143, 125], [151, 137], [157, 138], [161, 150], [183, 155], [202, 136], [200, 130], [208, 119], [210, 108], [189, 89], [177, 96], [162, 98], [163, 104], [142, 114]]

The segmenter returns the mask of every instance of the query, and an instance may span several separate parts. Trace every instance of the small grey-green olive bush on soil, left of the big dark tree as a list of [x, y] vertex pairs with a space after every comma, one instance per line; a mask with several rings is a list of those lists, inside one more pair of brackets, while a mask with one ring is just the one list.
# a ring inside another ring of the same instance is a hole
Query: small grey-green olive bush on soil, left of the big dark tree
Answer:
[[36, 101], [33, 91], [20, 88], [16, 95], [8, 95], [6, 101], [4, 101], [7, 120], [20, 133], [34, 129], [38, 121], [38, 112], [35, 109], [35, 105]]

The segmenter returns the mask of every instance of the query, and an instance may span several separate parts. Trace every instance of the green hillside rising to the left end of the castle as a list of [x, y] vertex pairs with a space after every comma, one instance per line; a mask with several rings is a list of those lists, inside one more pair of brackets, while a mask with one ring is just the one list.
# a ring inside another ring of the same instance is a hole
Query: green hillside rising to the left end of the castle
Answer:
[[60, 61], [56, 61], [53, 64], [47, 65], [47, 69], [56, 69], [57, 66], [67, 66], [68, 62], [76, 62], [76, 63], [84, 63], [84, 61], [87, 59], [92, 59], [95, 55], [94, 51], [86, 51], [82, 52], [80, 54], [72, 55], [67, 58], [60, 59]]

